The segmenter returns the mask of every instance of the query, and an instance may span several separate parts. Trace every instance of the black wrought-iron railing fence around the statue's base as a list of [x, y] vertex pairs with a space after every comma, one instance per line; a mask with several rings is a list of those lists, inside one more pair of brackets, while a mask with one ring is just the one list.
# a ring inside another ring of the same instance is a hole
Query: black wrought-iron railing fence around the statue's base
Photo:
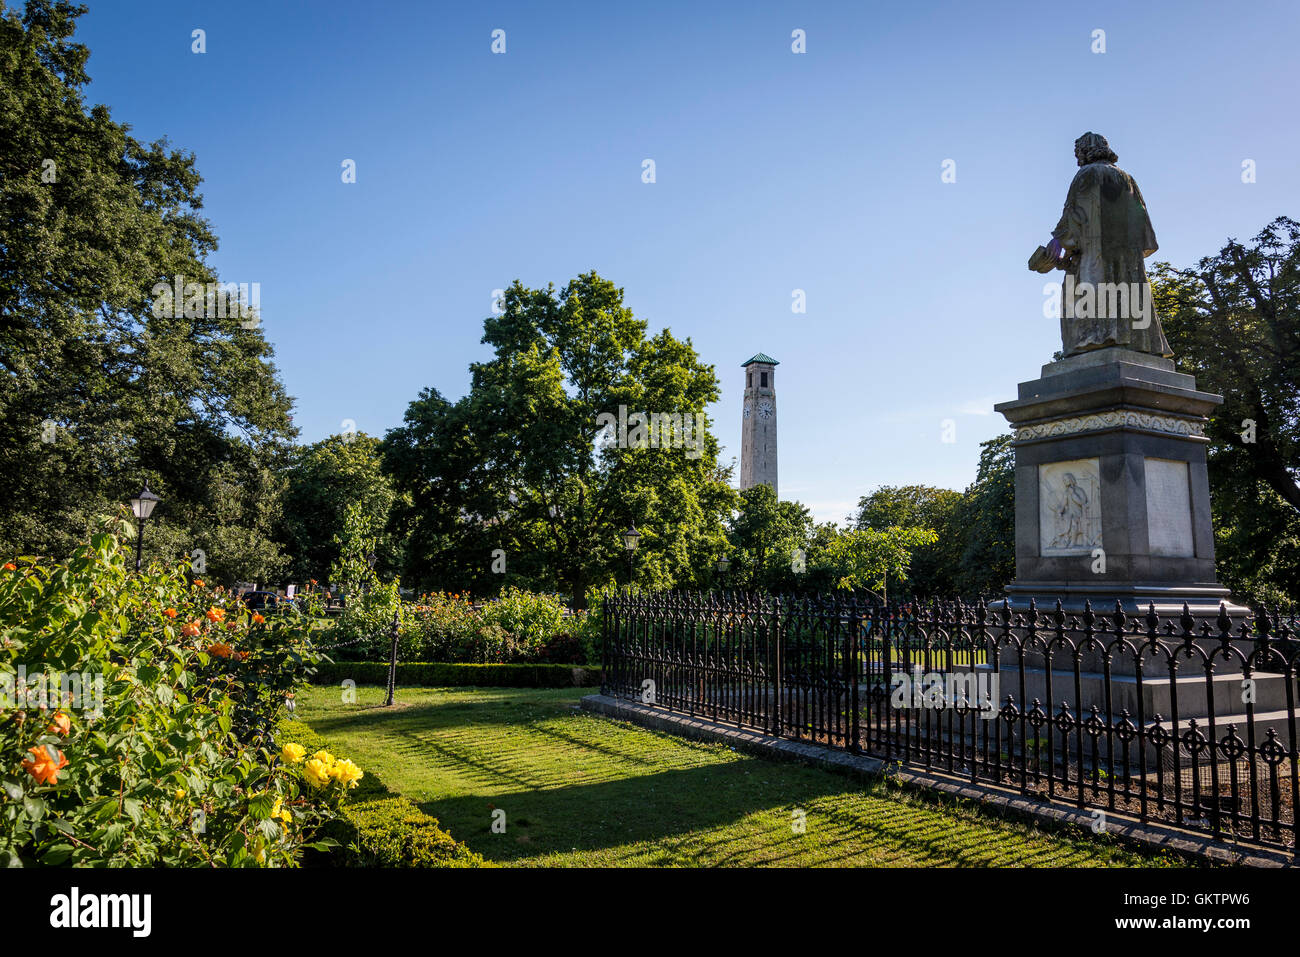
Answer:
[[[602, 692], [1216, 839], [1297, 846], [1292, 620], [614, 594]], [[1100, 828], [1096, 828], [1100, 830]]]

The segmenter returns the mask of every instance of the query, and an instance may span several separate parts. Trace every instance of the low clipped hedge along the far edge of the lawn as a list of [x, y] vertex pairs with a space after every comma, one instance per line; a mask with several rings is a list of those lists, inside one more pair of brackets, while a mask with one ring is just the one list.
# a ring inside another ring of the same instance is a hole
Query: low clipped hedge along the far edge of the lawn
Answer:
[[[321, 663], [312, 684], [389, 683], [387, 662]], [[451, 662], [398, 662], [398, 687], [425, 688], [594, 688], [601, 668], [589, 664], [459, 664]]]

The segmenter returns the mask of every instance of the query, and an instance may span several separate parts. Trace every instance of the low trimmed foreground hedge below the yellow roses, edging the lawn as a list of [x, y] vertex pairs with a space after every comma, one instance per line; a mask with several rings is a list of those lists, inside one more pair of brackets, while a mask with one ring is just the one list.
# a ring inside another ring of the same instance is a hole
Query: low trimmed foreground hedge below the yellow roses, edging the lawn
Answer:
[[[307, 753], [329, 748], [329, 742], [299, 720], [280, 724], [277, 741], [294, 741]], [[320, 837], [332, 837], [339, 848], [332, 853], [309, 854], [303, 863], [317, 867], [485, 867], [472, 852], [407, 798], [394, 796], [374, 775], [361, 768], [361, 778], [342, 817], [330, 822]]]

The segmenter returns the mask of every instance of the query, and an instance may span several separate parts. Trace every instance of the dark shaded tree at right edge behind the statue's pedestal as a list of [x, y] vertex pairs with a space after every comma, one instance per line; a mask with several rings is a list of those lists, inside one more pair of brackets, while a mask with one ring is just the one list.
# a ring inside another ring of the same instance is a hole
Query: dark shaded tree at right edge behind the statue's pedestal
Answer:
[[1156, 309], [1199, 389], [1219, 579], [1251, 601], [1300, 602], [1300, 224], [1279, 217], [1195, 268], [1158, 263]]

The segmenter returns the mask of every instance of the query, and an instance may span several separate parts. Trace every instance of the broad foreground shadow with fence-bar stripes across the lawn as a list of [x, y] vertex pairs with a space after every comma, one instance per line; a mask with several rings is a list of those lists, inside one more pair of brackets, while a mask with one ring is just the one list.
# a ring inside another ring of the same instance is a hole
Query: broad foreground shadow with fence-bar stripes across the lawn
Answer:
[[[757, 757], [724, 765], [507, 794], [469, 794], [420, 804], [458, 840], [500, 863], [567, 852], [629, 846], [640, 863], [792, 865], [902, 863], [928, 866], [1062, 865], [1084, 861], [1067, 844], [1031, 848], [1026, 836], [994, 822], [953, 819], [896, 794], [868, 788], [844, 807], [846, 781]], [[506, 811], [504, 833], [491, 832]], [[806, 832], [792, 827], [802, 809]], [[759, 819], [745, 820], [757, 815]], [[615, 854], [603, 863], [619, 863]], [[632, 862], [632, 861], [628, 861]]]

